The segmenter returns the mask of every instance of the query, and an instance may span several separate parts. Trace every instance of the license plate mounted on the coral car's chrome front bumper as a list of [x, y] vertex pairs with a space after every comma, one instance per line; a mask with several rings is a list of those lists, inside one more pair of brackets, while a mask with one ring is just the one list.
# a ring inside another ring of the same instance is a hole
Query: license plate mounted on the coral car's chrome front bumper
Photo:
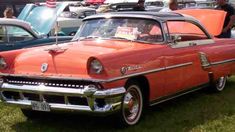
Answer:
[[31, 106], [32, 106], [32, 110], [51, 111], [50, 105], [47, 102], [32, 101]]

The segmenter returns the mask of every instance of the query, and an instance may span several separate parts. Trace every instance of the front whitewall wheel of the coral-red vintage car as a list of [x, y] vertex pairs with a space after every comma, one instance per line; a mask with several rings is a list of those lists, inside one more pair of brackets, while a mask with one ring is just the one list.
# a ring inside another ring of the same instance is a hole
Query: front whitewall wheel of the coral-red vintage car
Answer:
[[125, 126], [137, 124], [142, 115], [142, 110], [143, 95], [140, 87], [135, 83], [127, 85], [120, 116], [122, 124]]

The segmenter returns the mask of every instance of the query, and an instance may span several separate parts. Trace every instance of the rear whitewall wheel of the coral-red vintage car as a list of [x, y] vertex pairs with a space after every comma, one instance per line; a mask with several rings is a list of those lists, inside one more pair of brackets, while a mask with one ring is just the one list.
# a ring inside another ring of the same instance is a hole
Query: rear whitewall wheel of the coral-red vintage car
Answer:
[[221, 92], [224, 90], [226, 82], [227, 82], [227, 76], [223, 76], [218, 78], [214, 83], [212, 83], [211, 88], [215, 92]]

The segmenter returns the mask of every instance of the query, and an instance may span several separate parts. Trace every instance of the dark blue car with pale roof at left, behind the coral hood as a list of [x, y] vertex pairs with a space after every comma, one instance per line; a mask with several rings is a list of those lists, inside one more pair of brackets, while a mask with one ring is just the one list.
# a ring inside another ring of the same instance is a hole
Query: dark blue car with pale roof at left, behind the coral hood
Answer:
[[[58, 43], [68, 42], [72, 37], [58, 37]], [[0, 51], [14, 50], [25, 47], [55, 44], [56, 37], [39, 35], [29, 23], [0, 18]]]

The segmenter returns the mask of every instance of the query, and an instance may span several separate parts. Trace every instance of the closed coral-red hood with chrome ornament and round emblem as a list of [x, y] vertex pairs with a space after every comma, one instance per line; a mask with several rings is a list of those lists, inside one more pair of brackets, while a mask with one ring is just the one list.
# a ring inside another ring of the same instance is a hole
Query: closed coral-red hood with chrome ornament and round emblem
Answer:
[[[90, 57], [96, 57], [102, 61], [104, 56], [128, 53], [148, 46], [158, 45], [97, 40], [47, 46], [20, 54], [8, 73], [88, 78], [87, 61]], [[42, 71], [41, 68], [45, 64], [48, 65], [48, 69]]]

